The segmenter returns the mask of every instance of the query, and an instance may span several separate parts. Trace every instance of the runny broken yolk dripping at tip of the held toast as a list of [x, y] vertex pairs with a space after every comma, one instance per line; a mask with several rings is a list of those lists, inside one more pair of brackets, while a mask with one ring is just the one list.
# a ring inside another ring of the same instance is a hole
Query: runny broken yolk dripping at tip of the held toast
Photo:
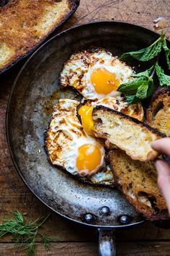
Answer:
[[88, 135], [93, 135], [93, 129], [94, 129], [94, 122], [92, 118], [92, 112], [93, 112], [93, 107], [91, 106], [81, 106], [79, 108], [79, 115], [81, 116], [81, 123], [82, 126], [84, 127], [84, 131]]

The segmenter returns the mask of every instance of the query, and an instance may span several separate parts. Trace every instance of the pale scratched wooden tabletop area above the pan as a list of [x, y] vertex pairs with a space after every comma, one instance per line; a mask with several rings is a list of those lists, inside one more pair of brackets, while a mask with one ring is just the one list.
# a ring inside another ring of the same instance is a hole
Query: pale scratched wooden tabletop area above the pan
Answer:
[[[135, 23], [153, 29], [153, 21], [158, 17], [167, 20], [166, 35], [170, 36], [170, 2], [169, 0], [107, 0], [81, 1], [76, 14], [67, 22], [65, 27], [73, 23], [82, 24], [101, 20], [115, 20]], [[160, 33], [161, 30], [158, 30]]]

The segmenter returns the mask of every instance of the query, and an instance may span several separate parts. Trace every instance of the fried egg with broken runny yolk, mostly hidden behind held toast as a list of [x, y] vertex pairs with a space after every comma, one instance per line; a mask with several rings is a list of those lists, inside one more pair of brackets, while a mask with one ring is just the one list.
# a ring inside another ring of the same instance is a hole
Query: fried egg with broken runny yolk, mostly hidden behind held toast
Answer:
[[125, 101], [125, 98], [120, 97], [119, 100], [117, 98], [102, 98], [98, 101], [87, 101], [84, 106], [79, 108], [79, 115], [81, 116], [81, 124], [84, 127], [84, 131], [93, 136], [94, 122], [92, 119], [92, 112], [95, 106], [106, 106], [107, 108], [112, 108], [116, 111], [120, 111], [128, 116], [132, 116], [135, 119], [143, 121], [144, 112], [143, 107], [140, 103], [138, 104], [128, 104]]

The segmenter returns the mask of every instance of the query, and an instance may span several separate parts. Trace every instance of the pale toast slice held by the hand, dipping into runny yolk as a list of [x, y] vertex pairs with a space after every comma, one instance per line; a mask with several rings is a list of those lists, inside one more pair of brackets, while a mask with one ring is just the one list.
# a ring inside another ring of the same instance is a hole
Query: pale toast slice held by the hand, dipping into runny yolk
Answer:
[[106, 139], [107, 148], [115, 145], [135, 160], [156, 158], [158, 153], [151, 148], [151, 142], [166, 137], [147, 124], [104, 106], [94, 108], [93, 119], [94, 135]]

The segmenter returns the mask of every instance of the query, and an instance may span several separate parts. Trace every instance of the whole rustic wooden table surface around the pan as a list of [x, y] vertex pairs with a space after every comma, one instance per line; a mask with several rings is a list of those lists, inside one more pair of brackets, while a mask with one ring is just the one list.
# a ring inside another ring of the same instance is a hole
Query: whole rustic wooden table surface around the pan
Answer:
[[[153, 20], [164, 17], [169, 20], [166, 34], [170, 35], [169, 14], [170, 0], [81, 0], [76, 14], [60, 30], [97, 20], [121, 20], [153, 29]], [[12, 83], [23, 64], [24, 61], [0, 75], [0, 222], [11, 216], [10, 211], [14, 210], [20, 210], [26, 218], [32, 219], [50, 212], [22, 182], [6, 143], [6, 104]], [[60, 242], [53, 242], [48, 252], [37, 242], [37, 255], [97, 255], [95, 230], [80, 227], [51, 213], [42, 231], [49, 236], [57, 236]], [[117, 255], [170, 255], [169, 242], [170, 230], [159, 229], [146, 222], [130, 230], [117, 231]], [[14, 252], [13, 246], [9, 237], [1, 239], [0, 255], [24, 255], [24, 252]]]

